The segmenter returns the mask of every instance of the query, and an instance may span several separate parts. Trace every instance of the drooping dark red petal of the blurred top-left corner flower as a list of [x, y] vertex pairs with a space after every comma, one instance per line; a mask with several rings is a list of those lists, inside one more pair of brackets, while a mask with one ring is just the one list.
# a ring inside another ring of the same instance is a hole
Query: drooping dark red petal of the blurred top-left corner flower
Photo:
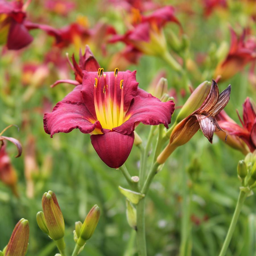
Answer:
[[13, 21], [10, 26], [7, 48], [9, 50], [19, 50], [33, 41], [32, 36], [22, 23]]

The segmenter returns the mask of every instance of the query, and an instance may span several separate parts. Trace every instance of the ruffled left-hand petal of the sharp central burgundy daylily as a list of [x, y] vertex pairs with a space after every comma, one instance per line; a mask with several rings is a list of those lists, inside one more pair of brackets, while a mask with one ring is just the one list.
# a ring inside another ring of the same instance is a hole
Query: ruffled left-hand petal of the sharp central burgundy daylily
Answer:
[[55, 133], [68, 133], [73, 129], [79, 129], [82, 133], [101, 129], [99, 121], [94, 120], [84, 103], [74, 101], [57, 103], [53, 112], [44, 115], [43, 124], [45, 132], [51, 137]]

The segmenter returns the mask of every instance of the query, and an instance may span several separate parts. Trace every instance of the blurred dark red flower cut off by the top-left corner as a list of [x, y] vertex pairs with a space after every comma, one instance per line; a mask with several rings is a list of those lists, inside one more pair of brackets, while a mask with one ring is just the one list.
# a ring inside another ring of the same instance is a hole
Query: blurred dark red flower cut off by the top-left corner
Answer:
[[9, 50], [19, 50], [29, 45], [33, 37], [28, 30], [34, 28], [45, 30], [59, 40], [58, 32], [54, 28], [26, 21], [27, 3], [23, 5], [23, 2], [18, 0], [0, 0], [0, 44], [6, 44]]

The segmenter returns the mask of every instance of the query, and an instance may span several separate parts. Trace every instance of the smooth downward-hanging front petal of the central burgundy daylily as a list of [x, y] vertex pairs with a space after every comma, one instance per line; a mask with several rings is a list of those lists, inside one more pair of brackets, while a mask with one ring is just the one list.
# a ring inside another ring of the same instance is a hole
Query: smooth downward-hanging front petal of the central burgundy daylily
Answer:
[[91, 135], [91, 144], [101, 160], [111, 168], [118, 168], [128, 158], [134, 142], [134, 133], [119, 132]]

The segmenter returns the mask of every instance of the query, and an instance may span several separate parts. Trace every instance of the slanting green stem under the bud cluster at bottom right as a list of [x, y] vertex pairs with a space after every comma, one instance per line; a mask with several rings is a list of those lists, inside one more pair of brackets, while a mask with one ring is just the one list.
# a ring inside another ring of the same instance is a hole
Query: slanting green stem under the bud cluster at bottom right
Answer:
[[244, 192], [244, 191], [240, 190], [238, 201], [237, 201], [237, 204], [236, 204], [236, 209], [234, 211], [234, 215], [232, 217], [232, 220], [231, 220], [231, 223], [230, 223], [230, 226], [229, 226], [229, 229], [228, 229], [228, 233], [227, 233], [226, 239], [225, 239], [225, 241], [224, 241], [224, 243], [222, 245], [222, 248], [221, 248], [219, 256], [226, 255], [226, 251], [228, 249], [230, 240], [231, 240], [231, 238], [233, 236], [233, 233], [234, 233], [234, 230], [235, 230], [235, 227], [236, 227], [236, 223], [237, 223], [238, 217], [239, 217], [240, 212], [241, 212], [242, 207], [243, 207], [244, 200], [247, 197], [248, 193], [249, 192]]

